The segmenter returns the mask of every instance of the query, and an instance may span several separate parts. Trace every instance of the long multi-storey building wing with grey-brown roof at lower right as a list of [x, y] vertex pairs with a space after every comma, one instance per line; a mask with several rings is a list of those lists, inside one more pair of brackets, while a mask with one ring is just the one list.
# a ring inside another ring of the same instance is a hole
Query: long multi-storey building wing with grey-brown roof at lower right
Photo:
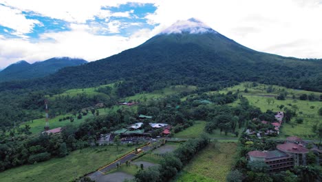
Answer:
[[268, 170], [269, 172], [288, 170], [294, 167], [293, 156], [279, 150], [255, 150], [248, 152], [248, 157], [250, 161], [264, 161], [270, 166], [270, 169]]

